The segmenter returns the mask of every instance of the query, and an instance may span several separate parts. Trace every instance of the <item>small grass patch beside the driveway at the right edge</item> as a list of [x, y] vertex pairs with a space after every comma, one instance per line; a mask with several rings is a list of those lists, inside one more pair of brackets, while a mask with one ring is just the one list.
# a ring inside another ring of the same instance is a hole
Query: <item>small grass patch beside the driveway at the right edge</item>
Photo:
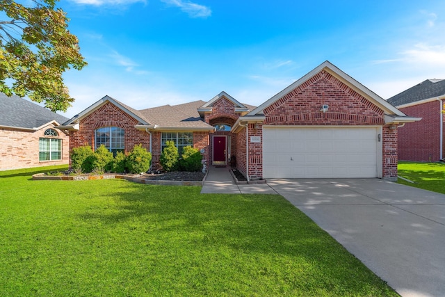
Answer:
[[399, 184], [445, 194], [444, 163], [399, 162], [398, 175], [414, 182], [398, 179]]

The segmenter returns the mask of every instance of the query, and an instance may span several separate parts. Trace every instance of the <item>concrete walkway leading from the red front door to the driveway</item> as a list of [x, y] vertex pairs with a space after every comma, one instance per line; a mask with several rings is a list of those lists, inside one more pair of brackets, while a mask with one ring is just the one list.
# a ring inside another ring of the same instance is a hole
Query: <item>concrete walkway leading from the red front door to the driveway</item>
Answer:
[[268, 184], [239, 184], [234, 182], [229, 168], [209, 167], [202, 194], [277, 194]]

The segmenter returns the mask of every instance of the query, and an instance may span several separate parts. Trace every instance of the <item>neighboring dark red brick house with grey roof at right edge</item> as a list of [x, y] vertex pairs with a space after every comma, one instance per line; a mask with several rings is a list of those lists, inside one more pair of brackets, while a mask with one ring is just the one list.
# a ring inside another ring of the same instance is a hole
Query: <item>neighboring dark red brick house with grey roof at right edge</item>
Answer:
[[387, 102], [413, 117], [422, 118], [398, 129], [398, 159], [439, 161], [444, 159], [445, 79], [427, 79]]

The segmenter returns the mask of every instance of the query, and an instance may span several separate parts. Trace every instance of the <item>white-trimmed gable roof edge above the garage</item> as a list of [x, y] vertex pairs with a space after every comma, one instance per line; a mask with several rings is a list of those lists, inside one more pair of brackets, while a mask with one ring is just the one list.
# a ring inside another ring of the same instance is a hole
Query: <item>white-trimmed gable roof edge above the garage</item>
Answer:
[[298, 79], [298, 81], [295, 81], [290, 86], [282, 90], [280, 93], [277, 93], [277, 95], [268, 99], [266, 102], [264, 102], [264, 104], [258, 106], [257, 109], [250, 111], [250, 113], [248, 113], [246, 116], [263, 115], [264, 109], [266, 109], [268, 106], [272, 105], [277, 100], [281, 99], [282, 97], [290, 93], [295, 88], [298, 88], [298, 86], [301, 86], [303, 83], [314, 77], [314, 75], [318, 74], [318, 72], [321, 72], [322, 70], [325, 70], [326, 72], [330, 73], [333, 77], [336, 77], [341, 82], [345, 83], [348, 87], [352, 88], [366, 99], [369, 99], [371, 102], [373, 102], [373, 104], [379, 106], [380, 109], [385, 111], [385, 114], [397, 115], [398, 117], [406, 116], [405, 113], [396, 109], [394, 106], [386, 102], [385, 99], [373, 93], [373, 91], [369, 90], [369, 88], [363, 86], [362, 83], [359, 83], [358, 81], [350, 77], [345, 72], [341, 71], [337, 66], [333, 65], [329, 61], [321, 63], [320, 65], [318, 65], [318, 67], [314, 68], [314, 70], [307, 73], [304, 77]]

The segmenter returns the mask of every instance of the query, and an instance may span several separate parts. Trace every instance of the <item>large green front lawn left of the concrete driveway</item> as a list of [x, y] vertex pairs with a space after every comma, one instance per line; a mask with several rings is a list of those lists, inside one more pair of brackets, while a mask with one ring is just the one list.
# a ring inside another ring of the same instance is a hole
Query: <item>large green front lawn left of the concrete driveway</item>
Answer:
[[0, 172], [0, 296], [397, 296], [280, 195], [44, 169]]

